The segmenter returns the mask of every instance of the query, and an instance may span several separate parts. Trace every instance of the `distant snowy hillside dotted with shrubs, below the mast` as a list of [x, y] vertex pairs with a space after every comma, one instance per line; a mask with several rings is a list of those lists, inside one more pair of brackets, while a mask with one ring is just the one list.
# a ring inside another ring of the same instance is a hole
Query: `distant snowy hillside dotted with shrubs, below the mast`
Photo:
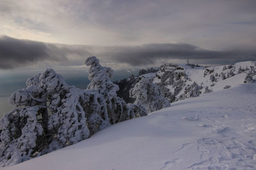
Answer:
[[[145, 74], [143, 74], [145, 73]], [[170, 103], [197, 97], [204, 93], [229, 88], [239, 83], [250, 83], [256, 74], [256, 62], [246, 61], [224, 66], [196, 67], [166, 63], [156, 69], [141, 69], [139, 76], [116, 81], [118, 96], [133, 101], [129, 90], [141, 78], [147, 78], [159, 86], [161, 93]], [[256, 78], [256, 77], [255, 77]]]

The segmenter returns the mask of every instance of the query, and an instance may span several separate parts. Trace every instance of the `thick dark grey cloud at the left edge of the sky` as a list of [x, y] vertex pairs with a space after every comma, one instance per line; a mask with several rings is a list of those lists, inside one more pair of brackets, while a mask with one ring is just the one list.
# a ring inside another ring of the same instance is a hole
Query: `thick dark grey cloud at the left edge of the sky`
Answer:
[[[0, 37], [0, 68], [10, 69], [28, 64], [36, 63], [42, 60], [65, 59], [65, 56], [51, 55], [50, 48], [45, 43], [29, 41], [23, 39], [14, 39], [8, 36]], [[56, 48], [56, 47], [55, 47]]]

